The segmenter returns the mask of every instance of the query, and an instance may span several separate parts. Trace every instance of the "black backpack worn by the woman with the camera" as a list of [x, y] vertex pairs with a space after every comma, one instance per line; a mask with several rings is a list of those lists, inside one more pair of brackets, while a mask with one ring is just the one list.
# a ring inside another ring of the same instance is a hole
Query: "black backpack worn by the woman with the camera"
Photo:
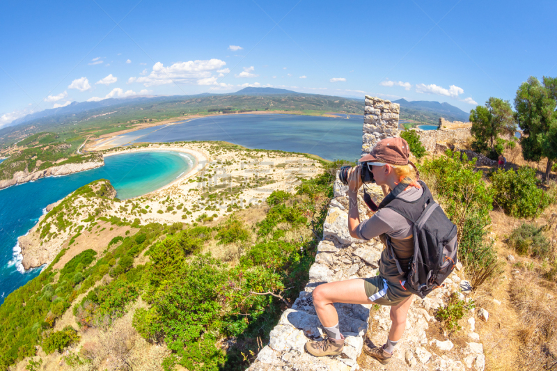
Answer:
[[[457, 226], [433, 200], [425, 183], [421, 180], [418, 182], [423, 187], [423, 194], [418, 200], [408, 202], [396, 198], [408, 187], [408, 184], [399, 183], [385, 196], [379, 207], [372, 209], [388, 207], [413, 223], [414, 256], [410, 259], [408, 267], [404, 270], [400, 267], [389, 236], [385, 236], [386, 248], [389, 258], [396, 262], [398, 273], [405, 275], [406, 282], [403, 287], [423, 299], [432, 290], [441, 287], [445, 278], [455, 269], [458, 243]], [[364, 200], [370, 205], [368, 201], [371, 198], [368, 194], [365, 194]]]

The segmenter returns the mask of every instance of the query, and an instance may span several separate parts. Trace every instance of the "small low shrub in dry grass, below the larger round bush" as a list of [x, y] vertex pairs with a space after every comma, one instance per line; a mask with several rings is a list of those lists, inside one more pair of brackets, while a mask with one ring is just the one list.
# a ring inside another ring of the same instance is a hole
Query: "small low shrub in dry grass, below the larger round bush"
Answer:
[[545, 258], [551, 251], [551, 245], [543, 234], [543, 227], [531, 223], [522, 223], [509, 236], [509, 245], [521, 255]]

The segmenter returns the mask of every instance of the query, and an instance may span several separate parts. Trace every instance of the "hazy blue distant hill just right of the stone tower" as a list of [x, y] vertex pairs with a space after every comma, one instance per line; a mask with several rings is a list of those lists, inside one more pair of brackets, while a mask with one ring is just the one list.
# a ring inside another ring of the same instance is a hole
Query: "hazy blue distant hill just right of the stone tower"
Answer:
[[393, 103], [400, 104], [401, 119], [437, 123], [439, 117], [443, 117], [449, 121], [469, 121], [470, 113], [466, 113], [462, 109], [448, 103], [430, 100], [407, 101], [405, 99], [395, 100]]

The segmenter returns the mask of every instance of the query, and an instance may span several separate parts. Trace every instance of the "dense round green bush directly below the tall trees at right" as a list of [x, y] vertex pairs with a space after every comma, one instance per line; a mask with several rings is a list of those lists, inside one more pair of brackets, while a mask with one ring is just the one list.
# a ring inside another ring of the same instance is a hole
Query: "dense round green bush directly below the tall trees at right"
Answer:
[[515, 218], [535, 218], [551, 203], [554, 195], [538, 188], [535, 169], [524, 166], [518, 171], [499, 169], [492, 175], [494, 201], [505, 214]]

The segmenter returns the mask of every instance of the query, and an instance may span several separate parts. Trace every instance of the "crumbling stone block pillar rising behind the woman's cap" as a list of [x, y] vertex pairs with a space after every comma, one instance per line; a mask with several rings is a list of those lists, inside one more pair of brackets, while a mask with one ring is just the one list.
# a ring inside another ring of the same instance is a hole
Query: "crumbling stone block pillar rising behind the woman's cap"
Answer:
[[368, 154], [378, 141], [399, 136], [400, 104], [366, 95], [363, 112], [362, 156]]

